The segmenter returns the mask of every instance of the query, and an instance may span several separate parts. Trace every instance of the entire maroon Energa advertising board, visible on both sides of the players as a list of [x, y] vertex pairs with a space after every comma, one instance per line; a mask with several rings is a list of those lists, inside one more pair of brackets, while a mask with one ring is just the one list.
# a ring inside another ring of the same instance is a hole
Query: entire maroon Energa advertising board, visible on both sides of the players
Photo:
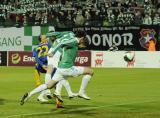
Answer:
[[[9, 66], [34, 66], [35, 60], [32, 52], [9, 52]], [[91, 52], [79, 51], [75, 59], [76, 66], [91, 66]]]

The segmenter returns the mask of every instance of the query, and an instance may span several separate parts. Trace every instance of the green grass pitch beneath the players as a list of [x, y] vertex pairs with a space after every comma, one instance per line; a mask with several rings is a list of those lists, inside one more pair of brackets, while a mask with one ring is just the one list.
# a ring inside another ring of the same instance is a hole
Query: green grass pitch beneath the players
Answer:
[[[0, 118], [160, 118], [160, 69], [94, 69], [87, 93], [92, 100], [69, 100], [64, 109], [37, 95], [23, 106], [21, 96], [34, 88], [33, 67], [0, 67]], [[81, 79], [69, 79], [78, 92]]]

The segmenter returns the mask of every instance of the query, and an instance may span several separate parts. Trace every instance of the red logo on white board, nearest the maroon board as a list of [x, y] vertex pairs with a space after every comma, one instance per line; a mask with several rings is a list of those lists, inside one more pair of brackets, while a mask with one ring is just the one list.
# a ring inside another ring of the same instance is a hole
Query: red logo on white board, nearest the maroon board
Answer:
[[103, 52], [97, 52], [95, 57], [95, 67], [102, 66], [103, 63]]

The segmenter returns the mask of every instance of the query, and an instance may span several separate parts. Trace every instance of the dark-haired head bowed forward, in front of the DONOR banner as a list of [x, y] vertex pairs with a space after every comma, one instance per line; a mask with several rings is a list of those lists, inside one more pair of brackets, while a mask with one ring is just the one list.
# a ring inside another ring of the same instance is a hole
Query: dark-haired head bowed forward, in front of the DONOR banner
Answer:
[[89, 45], [89, 41], [84, 31], [77, 31], [75, 36], [79, 39], [79, 48], [86, 48]]

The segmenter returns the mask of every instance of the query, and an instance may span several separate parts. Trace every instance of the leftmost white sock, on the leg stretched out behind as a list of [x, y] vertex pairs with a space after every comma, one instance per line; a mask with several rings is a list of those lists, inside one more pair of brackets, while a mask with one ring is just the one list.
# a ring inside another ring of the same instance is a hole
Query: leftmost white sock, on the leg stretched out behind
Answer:
[[29, 97], [31, 97], [32, 95], [41, 92], [43, 90], [47, 89], [47, 85], [46, 84], [42, 84], [40, 86], [38, 86], [37, 88], [35, 88], [34, 90], [32, 90], [31, 92], [29, 92]]

